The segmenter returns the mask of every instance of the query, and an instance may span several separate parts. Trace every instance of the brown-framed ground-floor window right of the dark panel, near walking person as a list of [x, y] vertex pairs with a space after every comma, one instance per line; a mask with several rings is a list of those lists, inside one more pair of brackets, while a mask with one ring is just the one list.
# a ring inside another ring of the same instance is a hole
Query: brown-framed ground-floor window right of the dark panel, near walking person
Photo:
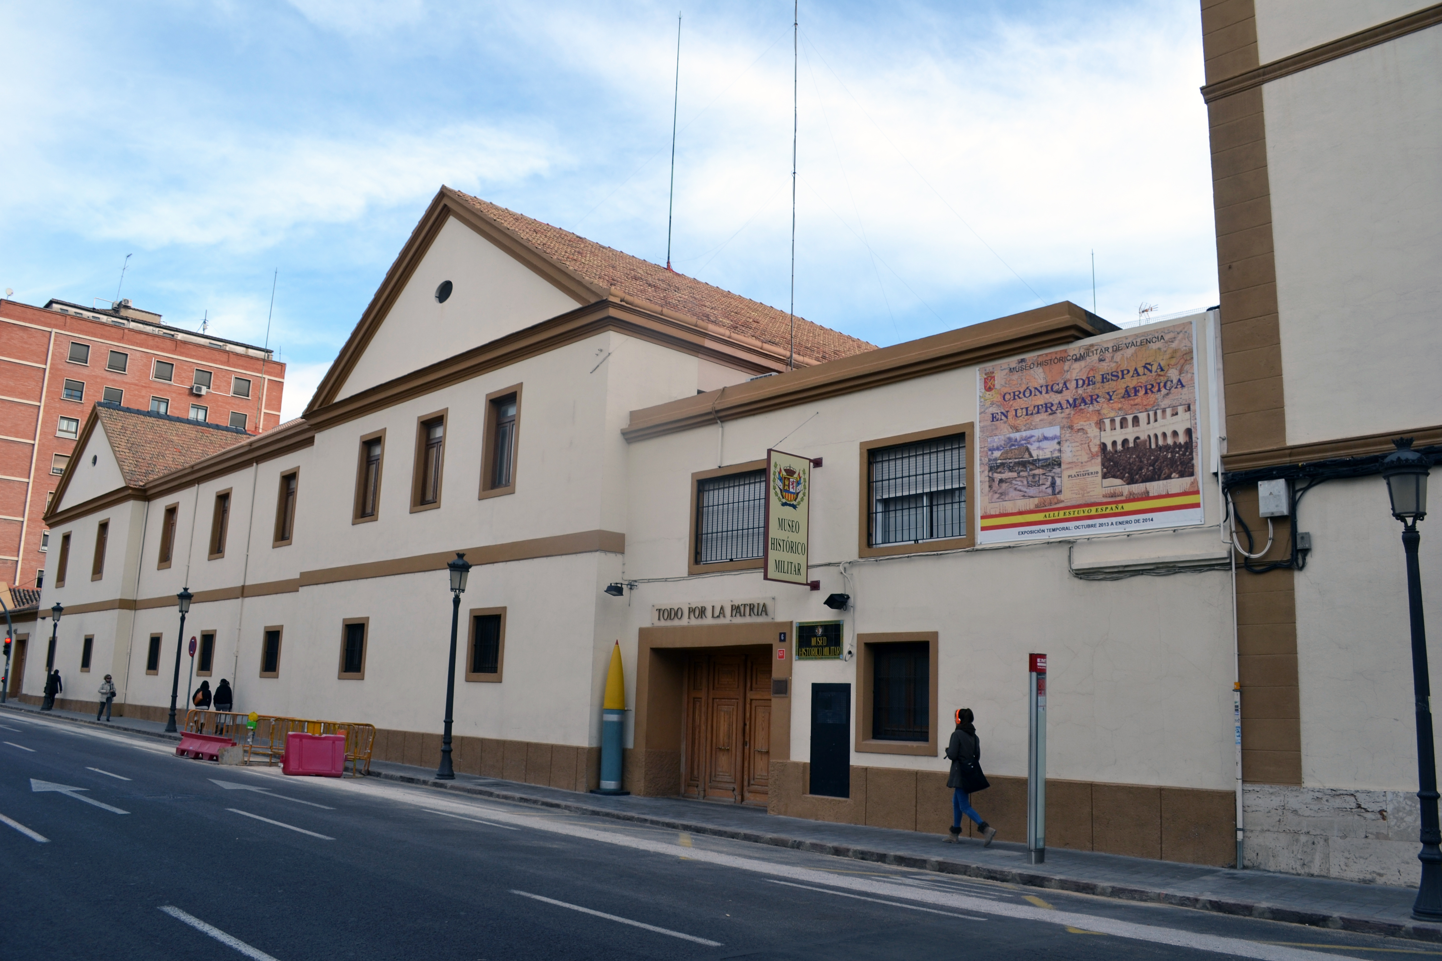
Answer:
[[857, 751], [936, 756], [936, 638], [857, 635]]

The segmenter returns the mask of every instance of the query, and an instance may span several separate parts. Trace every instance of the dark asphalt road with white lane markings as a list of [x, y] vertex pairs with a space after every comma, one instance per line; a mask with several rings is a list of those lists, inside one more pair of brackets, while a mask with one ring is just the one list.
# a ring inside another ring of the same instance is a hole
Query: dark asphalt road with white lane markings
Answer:
[[222, 768], [13, 712], [0, 712], [0, 817], [6, 961], [1442, 954], [373, 778]]

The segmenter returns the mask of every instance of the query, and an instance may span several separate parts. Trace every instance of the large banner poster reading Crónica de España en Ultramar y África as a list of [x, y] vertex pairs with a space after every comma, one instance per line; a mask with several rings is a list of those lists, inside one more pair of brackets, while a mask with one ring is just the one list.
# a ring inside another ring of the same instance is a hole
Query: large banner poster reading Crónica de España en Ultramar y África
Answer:
[[979, 543], [1203, 523], [1190, 321], [978, 370]]

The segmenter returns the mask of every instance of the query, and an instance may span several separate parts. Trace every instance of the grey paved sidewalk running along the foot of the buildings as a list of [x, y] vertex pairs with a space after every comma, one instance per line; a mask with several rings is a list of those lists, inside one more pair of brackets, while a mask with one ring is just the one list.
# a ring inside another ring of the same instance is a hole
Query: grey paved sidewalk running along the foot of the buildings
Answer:
[[[6, 705], [13, 710], [39, 713], [29, 705]], [[95, 725], [92, 716], [52, 710], [52, 718]], [[177, 741], [163, 733], [154, 720], [115, 718], [98, 726]], [[1047, 849], [1043, 864], [1027, 863], [1021, 844], [962, 839], [947, 844], [934, 834], [898, 831], [858, 824], [831, 824], [795, 817], [770, 815], [761, 808], [685, 801], [681, 798], [614, 797], [577, 794], [534, 784], [457, 774], [454, 781], [437, 781], [428, 768], [373, 761], [371, 775], [386, 781], [457, 791], [483, 798], [609, 817], [692, 834], [709, 834], [756, 844], [790, 847], [815, 854], [832, 854], [861, 862], [894, 864], [913, 870], [965, 875], [1030, 888], [1050, 888], [1102, 898], [1214, 911], [1226, 915], [1265, 918], [1361, 934], [1442, 942], [1442, 925], [1412, 919], [1416, 890], [1384, 885], [1361, 885], [1327, 877], [1301, 877], [1262, 870], [1231, 870], [1203, 864]]]

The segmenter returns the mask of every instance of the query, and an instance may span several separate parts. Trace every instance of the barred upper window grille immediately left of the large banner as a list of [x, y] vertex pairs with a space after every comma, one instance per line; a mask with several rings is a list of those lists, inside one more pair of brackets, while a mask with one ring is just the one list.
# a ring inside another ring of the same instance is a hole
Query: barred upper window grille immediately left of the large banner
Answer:
[[966, 536], [966, 435], [870, 451], [871, 543]]

